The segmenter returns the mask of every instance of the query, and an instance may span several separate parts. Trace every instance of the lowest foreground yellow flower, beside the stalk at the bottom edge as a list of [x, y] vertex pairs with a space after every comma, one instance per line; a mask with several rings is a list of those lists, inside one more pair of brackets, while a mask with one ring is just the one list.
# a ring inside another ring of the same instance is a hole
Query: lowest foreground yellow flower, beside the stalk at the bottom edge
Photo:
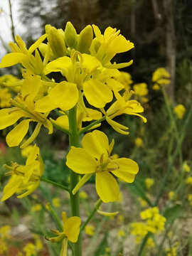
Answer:
[[55, 230], [55, 229], [51, 230], [57, 236], [55, 238], [47, 238], [47, 239], [50, 242], [60, 242], [63, 240], [60, 255], [64, 256], [64, 255], [67, 255], [68, 240], [70, 242], [78, 241], [81, 220], [77, 216], [67, 218], [67, 214], [65, 212], [62, 213], [62, 219], [63, 219], [63, 231], [59, 232], [58, 230]]

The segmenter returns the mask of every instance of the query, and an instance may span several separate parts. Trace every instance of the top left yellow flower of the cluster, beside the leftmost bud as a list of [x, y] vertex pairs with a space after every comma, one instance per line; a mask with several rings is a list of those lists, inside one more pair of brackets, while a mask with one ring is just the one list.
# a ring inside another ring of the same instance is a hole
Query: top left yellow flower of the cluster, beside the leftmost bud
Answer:
[[[37, 48], [46, 37], [47, 35], [45, 34], [38, 38], [38, 40], [27, 50], [21, 37], [16, 36], [16, 43], [9, 43], [12, 53], [8, 53], [2, 58], [0, 68], [7, 68], [21, 63], [29, 73], [40, 75], [43, 72], [43, 62]], [[32, 54], [34, 50], [35, 55]]]

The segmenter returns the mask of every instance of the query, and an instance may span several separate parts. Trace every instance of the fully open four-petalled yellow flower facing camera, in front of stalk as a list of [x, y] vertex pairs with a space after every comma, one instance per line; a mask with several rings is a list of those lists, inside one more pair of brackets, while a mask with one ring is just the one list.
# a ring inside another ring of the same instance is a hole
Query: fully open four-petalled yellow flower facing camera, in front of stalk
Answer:
[[139, 167], [131, 159], [111, 159], [113, 146], [114, 140], [109, 145], [107, 136], [95, 130], [82, 138], [83, 148], [73, 146], [70, 149], [66, 165], [78, 174], [85, 174], [73, 193], [95, 174], [96, 190], [101, 200], [105, 203], [118, 200], [119, 186], [114, 176], [132, 183]]

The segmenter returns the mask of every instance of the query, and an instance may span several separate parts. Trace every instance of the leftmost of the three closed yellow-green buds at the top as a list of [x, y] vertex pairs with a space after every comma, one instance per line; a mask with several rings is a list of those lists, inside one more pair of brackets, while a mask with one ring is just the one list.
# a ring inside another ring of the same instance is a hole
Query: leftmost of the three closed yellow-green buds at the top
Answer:
[[53, 26], [46, 25], [46, 33], [48, 34], [48, 42], [55, 58], [67, 55], [65, 41], [60, 31]]

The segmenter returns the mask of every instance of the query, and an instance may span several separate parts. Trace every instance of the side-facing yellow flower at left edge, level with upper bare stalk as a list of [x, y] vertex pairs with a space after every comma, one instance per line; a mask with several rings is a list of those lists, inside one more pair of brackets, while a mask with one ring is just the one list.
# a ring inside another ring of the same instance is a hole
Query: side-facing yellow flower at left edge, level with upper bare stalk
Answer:
[[31, 137], [21, 147], [33, 142], [33, 139], [38, 136], [42, 125], [48, 129], [49, 134], [53, 133], [53, 125], [47, 119], [49, 113], [41, 114], [35, 110], [34, 99], [38, 95], [40, 86], [40, 77], [28, 76], [23, 82], [21, 94], [18, 94], [13, 100], [11, 99], [11, 104], [15, 107], [0, 110], [0, 129], [15, 124], [21, 117], [27, 118], [23, 119], [7, 134], [6, 142], [9, 146], [18, 146], [21, 143], [28, 132], [29, 122], [37, 122], [38, 124]]

